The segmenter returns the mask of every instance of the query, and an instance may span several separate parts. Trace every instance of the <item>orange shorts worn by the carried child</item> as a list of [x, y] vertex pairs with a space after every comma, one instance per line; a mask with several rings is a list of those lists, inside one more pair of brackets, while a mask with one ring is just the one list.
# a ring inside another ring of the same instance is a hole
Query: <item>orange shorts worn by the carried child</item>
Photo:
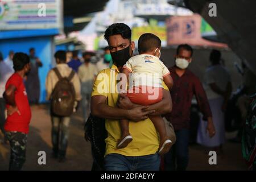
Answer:
[[151, 105], [162, 101], [163, 88], [152, 86], [134, 86], [127, 91], [131, 102], [139, 105]]

